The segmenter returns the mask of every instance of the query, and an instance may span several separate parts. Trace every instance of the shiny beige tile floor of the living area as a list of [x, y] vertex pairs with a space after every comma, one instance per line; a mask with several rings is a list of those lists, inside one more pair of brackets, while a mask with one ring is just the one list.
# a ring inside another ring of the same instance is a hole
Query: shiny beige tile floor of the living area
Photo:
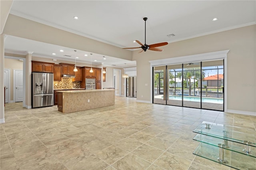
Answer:
[[[8, 103], [1, 170], [233, 170], [192, 154], [202, 121], [252, 127], [256, 117], [116, 97], [110, 107], [63, 114]], [[254, 163], [254, 162], [252, 162]]]

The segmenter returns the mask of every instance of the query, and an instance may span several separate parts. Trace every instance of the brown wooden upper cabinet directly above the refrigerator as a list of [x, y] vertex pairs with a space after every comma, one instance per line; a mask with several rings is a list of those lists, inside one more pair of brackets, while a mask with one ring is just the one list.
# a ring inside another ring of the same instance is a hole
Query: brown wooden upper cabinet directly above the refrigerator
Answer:
[[44, 72], [53, 73], [54, 63], [47, 63], [41, 61], [31, 61], [32, 62], [32, 72]]

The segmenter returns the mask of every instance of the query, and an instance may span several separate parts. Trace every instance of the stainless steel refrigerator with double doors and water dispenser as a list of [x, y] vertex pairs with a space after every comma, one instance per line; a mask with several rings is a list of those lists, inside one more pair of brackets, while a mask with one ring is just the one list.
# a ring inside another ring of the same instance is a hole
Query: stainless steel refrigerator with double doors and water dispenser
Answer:
[[53, 73], [32, 72], [32, 108], [54, 105]]

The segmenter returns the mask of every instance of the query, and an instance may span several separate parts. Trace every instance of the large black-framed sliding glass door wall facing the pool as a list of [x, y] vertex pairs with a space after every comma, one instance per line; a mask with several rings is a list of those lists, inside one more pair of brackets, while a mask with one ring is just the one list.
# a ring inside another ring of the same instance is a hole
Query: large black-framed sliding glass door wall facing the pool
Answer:
[[153, 103], [223, 111], [223, 64], [221, 59], [154, 67]]

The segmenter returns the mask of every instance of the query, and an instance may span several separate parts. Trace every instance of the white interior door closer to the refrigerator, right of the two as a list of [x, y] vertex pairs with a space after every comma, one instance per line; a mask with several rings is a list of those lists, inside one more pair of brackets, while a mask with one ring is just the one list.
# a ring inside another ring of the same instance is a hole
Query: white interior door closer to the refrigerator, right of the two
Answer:
[[23, 101], [23, 70], [14, 69], [15, 102]]

